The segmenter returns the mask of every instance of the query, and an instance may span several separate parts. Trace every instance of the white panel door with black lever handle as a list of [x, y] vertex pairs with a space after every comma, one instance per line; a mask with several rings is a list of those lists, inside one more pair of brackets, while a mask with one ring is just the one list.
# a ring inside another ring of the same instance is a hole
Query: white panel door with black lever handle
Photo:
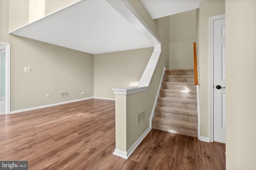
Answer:
[[214, 20], [214, 133], [213, 140], [226, 143], [225, 19]]

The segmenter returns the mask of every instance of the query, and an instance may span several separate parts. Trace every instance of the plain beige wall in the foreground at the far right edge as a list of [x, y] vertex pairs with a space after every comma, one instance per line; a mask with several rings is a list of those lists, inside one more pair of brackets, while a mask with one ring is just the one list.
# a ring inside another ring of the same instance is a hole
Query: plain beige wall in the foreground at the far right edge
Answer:
[[226, 169], [256, 169], [256, 1], [226, 0]]

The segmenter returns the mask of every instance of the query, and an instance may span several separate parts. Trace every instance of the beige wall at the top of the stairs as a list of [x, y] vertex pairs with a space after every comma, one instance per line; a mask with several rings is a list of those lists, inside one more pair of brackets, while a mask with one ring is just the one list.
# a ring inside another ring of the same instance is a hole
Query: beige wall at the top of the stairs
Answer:
[[196, 10], [170, 16], [170, 69], [194, 68]]

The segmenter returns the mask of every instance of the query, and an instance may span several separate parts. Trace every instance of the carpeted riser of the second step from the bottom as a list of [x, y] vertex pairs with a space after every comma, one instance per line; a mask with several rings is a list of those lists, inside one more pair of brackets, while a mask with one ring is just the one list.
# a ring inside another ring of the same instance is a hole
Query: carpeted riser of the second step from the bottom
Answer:
[[192, 122], [195, 122], [195, 123], [198, 122], [197, 116], [182, 115], [182, 114], [177, 114], [177, 113], [168, 113], [168, 112], [156, 111], [155, 116], [166, 118], [166, 119], [192, 121]]

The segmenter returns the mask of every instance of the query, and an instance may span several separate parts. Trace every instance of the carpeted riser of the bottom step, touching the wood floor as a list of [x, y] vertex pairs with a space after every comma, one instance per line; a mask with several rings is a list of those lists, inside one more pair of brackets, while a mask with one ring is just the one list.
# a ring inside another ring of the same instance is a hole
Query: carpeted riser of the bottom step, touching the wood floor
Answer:
[[166, 131], [166, 132], [172, 132], [172, 133], [178, 133], [181, 135], [186, 135], [186, 136], [191, 136], [191, 137], [197, 137], [197, 131], [191, 130], [191, 129], [184, 129], [182, 127], [173, 127], [169, 125], [162, 125], [158, 123], [152, 123], [152, 128], [153, 129], [158, 129], [161, 131]]

